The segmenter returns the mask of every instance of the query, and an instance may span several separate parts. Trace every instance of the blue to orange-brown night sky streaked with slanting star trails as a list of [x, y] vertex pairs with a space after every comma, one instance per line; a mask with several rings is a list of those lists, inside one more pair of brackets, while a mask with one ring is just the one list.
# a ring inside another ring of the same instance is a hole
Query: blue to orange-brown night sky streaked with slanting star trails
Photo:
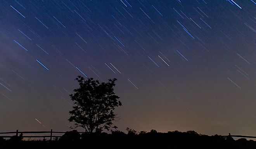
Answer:
[[118, 79], [121, 131], [256, 136], [255, 4], [1, 0], [0, 131], [70, 130], [82, 75]]

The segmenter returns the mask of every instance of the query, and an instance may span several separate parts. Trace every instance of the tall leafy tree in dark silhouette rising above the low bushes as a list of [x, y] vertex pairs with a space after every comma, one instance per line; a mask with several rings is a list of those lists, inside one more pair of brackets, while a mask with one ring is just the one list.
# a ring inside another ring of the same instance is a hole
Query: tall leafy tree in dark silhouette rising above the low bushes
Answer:
[[99, 82], [89, 78], [85, 80], [80, 75], [75, 79], [79, 83], [79, 88], [74, 89], [74, 94], [70, 94], [74, 102], [73, 110], [69, 122], [75, 122], [75, 128], [85, 128], [90, 134], [93, 130], [101, 132], [102, 128], [117, 128], [112, 126], [112, 121], [116, 121], [115, 107], [122, 106], [119, 97], [114, 93], [116, 78], [109, 79], [108, 82]]

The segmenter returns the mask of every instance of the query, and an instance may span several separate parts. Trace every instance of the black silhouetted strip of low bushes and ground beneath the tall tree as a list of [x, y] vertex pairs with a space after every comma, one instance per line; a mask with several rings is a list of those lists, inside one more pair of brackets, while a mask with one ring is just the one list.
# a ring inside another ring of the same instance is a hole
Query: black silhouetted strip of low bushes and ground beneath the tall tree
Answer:
[[187, 132], [136, 132], [127, 128], [128, 133], [119, 130], [79, 134], [76, 130], [66, 132], [61, 138], [49, 140], [22, 140], [13, 136], [5, 140], [0, 137], [0, 149], [256, 149], [256, 141], [202, 135]]

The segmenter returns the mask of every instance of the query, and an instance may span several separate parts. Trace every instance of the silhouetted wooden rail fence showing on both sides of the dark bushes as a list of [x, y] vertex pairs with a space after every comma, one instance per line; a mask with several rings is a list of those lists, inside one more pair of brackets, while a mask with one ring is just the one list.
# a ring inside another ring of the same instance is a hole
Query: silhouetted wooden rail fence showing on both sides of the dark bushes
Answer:
[[[19, 136], [19, 134], [22, 134], [23, 138], [47, 138], [49, 137], [50, 140], [52, 140], [52, 137], [61, 137], [59, 135], [53, 135], [53, 134], [65, 134], [66, 132], [54, 132], [52, 131], [40, 131], [40, 132], [19, 132], [19, 130], [16, 130], [16, 132], [0, 132], [0, 137], [3, 138], [11, 138], [11, 135], [1, 135], [1, 134], [16, 134], [15, 136]], [[85, 132], [78, 132], [78, 133], [85, 133]], [[33, 136], [24, 136], [23, 134], [50, 134], [50, 135], [33, 135]], [[256, 138], [254, 136], [246, 136], [246, 135], [231, 135], [230, 133], [228, 135], [221, 135], [222, 137], [239, 137], [239, 138]]]

